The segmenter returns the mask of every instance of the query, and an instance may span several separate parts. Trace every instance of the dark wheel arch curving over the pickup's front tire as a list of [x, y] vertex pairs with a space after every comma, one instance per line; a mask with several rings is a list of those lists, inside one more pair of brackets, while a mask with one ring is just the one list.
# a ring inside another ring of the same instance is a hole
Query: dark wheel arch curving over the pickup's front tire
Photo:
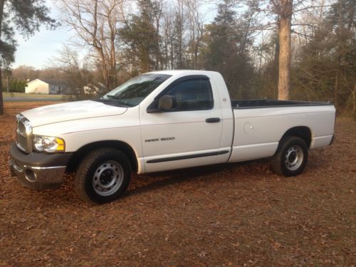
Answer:
[[67, 165], [67, 172], [75, 172], [78, 168], [83, 157], [88, 155], [88, 153], [92, 152], [101, 147], [110, 147], [120, 150], [124, 153], [130, 161], [131, 167], [133, 171], [137, 171], [138, 169], [138, 162], [135, 150], [132, 149], [130, 145], [126, 142], [117, 141], [117, 140], [105, 140], [105, 141], [98, 141], [92, 142], [83, 147], [80, 147], [79, 150], [73, 153], [72, 157], [70, 157], [68, 165]]

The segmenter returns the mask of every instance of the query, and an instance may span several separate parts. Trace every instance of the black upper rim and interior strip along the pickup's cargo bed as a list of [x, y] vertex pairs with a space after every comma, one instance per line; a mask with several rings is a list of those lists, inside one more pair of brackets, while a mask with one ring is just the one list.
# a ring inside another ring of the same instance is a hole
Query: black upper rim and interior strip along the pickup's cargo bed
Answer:
[[333, 103], [323, 102], [308, 102], [308, 101], [294, 101], [294, 100], [231, 100], [231, 107], [234, 110], [246, 108], [282, 108], [282, 107], [303, 107], [313, 105], [333, 105]]

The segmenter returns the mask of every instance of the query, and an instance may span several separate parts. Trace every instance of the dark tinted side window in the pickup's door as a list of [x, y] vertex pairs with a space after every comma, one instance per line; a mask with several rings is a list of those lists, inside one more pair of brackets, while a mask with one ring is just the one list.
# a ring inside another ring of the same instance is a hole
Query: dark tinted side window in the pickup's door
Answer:
[[177, 100], [176, 111], [210, 110], [214, 107], [209, 80], [184, 80], [170, 88], [165, 95], [172, 95]]

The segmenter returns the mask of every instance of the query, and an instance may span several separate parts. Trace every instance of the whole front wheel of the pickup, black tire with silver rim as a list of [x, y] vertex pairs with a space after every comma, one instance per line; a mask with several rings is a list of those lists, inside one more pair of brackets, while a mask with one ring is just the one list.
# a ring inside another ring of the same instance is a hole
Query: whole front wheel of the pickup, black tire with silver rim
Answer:
[[80, 198], [95, 204], [114, 201], [122, 195], [131, 179], [126, 155], [112, 148], [90, 152], [75, 173], [75, 191]]

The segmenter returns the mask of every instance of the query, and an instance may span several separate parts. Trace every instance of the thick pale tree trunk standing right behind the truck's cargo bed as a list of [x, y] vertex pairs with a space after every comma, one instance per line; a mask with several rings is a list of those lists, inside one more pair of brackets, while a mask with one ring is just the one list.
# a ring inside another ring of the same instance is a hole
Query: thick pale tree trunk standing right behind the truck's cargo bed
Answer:
[[293, 0], [282, 1], [283, 13], [279, 17], [279, 70], [278, 100], [288, 100], [290, 90], [290, 24]]

